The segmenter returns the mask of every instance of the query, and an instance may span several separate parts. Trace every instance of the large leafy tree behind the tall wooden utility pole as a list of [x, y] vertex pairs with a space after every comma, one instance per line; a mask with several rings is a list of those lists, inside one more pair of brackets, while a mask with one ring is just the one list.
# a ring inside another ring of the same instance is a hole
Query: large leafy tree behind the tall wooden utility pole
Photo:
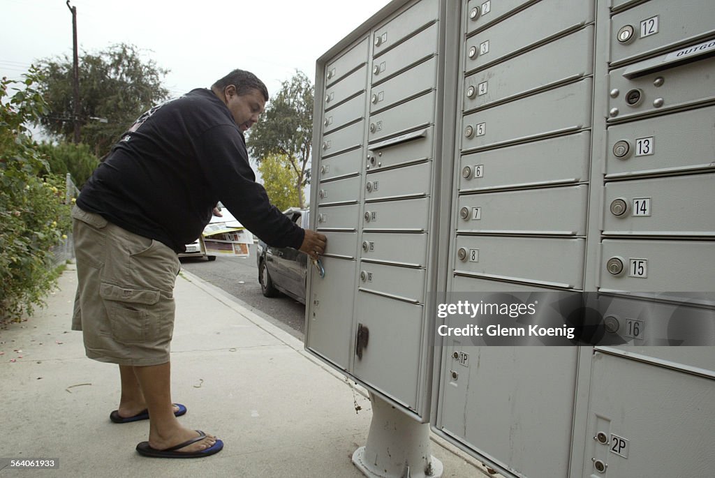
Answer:
[[[44, 79], [39, 91], [49, 113], [41, 116], [43, 129], [65, 141], [74, 139], [74, 95], [72, 61], [66, 55], [39, 61]], [[144, 111], [169, 96], [162, 86], [168, 70], [153, 60], [143, 61], [134, 45], [109, 46], [97, 54], [83, 52], [79, 58], [79, 95], [82, 126], [81, 141], [94, 154], [109, 152], [119, 136]]]

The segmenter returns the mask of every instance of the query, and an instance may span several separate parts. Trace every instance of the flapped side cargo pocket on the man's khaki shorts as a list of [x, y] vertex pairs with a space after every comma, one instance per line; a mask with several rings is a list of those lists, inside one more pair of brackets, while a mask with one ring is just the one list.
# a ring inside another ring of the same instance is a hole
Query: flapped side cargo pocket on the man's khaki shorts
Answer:
[[99, 295], [109, 317], [112, 337], [118, 342], [154, 342], [171, 339], [174, 299], [158, 290], [135, 289], [102, 282]]

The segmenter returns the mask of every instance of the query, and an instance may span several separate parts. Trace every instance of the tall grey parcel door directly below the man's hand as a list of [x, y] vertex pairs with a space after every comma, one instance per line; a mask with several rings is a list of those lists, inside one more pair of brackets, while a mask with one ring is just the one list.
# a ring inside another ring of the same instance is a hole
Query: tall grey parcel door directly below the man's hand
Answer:
[[312, 277], [305, 342], [338, 367], [347, 370], [352, 350], [352, 311], [355, 261], [322, 257], [323, 267], [339, 281]]

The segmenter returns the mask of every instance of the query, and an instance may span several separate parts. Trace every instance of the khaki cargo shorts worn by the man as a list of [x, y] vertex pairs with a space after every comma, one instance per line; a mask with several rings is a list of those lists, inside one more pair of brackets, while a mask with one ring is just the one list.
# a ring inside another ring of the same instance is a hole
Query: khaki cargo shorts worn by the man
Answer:
[[134, 366], [169, 362], [177, 254], [78, 206], [72, 218], [78, 279], [72, 329], [82, 330], [87, 357]]

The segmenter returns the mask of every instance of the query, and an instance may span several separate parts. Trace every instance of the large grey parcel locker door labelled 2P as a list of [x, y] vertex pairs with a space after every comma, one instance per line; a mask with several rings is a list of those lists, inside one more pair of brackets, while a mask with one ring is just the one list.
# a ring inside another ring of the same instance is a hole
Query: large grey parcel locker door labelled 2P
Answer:
[[608, 478], [712, 474], [713, 379], [596, 352], [590, 389], [583, 477], [606, 476], [595, 460]]

